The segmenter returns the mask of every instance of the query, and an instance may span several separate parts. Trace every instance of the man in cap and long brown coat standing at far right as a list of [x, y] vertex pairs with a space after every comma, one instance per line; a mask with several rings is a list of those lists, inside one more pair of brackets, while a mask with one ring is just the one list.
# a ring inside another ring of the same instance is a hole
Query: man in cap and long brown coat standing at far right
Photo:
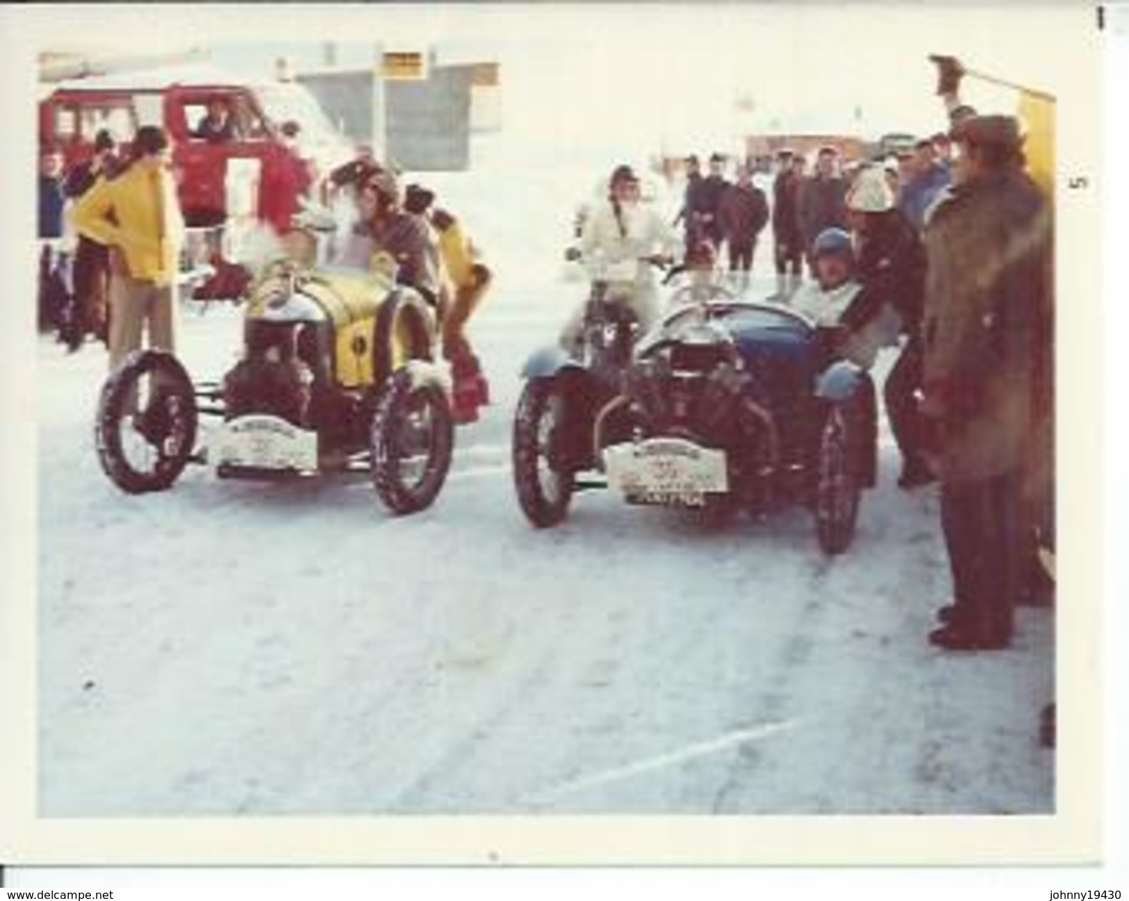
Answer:
[[925, 231], [922, 413], [953, 578], [929, 640], [987, 650], [1010, 640], [1030, 551], [1022, 504], [1049, 403], [1051, 222], [1014, 117], [966, 116], [952, 137], [954, 184]]

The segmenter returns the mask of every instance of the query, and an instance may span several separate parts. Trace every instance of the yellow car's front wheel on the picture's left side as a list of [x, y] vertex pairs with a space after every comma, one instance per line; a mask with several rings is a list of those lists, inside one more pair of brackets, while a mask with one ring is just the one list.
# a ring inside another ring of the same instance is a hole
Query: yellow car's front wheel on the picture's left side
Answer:
[[172, 353], [134, 351], [111, 373], [98, 399], [95, 444], [114, 484], [131, 495], [168, 488], [195, 440], [195, 392]]

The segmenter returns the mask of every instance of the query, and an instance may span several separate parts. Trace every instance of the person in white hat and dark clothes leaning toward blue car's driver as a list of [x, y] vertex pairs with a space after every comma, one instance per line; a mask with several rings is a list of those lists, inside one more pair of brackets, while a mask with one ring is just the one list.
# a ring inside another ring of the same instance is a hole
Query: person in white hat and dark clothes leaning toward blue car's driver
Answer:
[[917, 231], [894, 207], [885, 173], [864, 168], [847, 195], [848, 218], [857, 244], [856, 277], [869, 303], [849, 312], [849, 324], [858, 329], [892, 308], [908, 335], [883, 386], [883, 400], [894, 440], [902, 453], [900, 488], [911, 489], [934, 481], [925, 460], [924, 429], [918, 394], [921, 388], [921, 304], [926, 257]]

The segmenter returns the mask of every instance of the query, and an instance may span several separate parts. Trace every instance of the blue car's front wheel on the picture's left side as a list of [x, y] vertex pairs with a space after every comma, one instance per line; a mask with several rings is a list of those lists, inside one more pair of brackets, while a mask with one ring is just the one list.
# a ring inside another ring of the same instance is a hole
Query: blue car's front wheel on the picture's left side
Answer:
[[537, 528], [568, 515], [576, 483], [563, 463], [564, 395], [551, 378], [526, 383], [514, 417], [514, 486], [526, 518]]

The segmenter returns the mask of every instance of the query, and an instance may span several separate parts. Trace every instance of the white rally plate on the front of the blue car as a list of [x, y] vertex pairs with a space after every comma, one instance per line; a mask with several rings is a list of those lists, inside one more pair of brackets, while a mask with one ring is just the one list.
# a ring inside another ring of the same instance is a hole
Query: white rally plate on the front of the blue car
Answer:
[[725, 452], [684, 438], [649, 438], [604, 449], [609, 483], [636, 504], [701, 506], [729, 490]]

